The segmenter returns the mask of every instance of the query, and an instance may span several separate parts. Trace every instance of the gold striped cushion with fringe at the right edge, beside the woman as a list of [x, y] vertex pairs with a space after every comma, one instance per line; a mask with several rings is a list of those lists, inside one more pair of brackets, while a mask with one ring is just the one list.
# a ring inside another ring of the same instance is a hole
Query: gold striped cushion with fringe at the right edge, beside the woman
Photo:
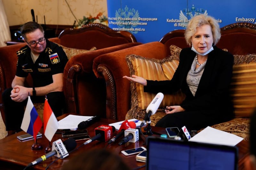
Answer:
[[256, 55], [234, 55], [230, 93], [237, 118], [250, 117], [256, 106]]

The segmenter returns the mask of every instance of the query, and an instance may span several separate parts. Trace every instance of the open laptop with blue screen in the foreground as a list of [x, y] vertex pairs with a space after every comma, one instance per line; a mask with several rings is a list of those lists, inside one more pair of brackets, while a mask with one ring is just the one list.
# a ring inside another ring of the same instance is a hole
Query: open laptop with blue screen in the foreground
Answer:
[[236, 146], [147, 137], [147, 170], [237, 170]]

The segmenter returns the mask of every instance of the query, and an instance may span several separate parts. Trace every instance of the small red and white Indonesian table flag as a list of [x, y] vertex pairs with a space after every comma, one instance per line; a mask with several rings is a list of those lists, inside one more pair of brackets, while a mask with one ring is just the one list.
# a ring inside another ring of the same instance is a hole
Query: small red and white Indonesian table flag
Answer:
[[59, 128], [59, 122], [56, 119], [52, 109], [45, 99], [44, 101], [44, 135], [51, 142], [53, 135]]

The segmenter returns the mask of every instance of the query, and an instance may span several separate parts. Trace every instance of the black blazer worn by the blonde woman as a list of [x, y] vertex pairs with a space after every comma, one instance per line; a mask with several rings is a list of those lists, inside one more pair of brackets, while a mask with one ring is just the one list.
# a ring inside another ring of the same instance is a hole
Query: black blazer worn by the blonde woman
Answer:
[[[177, 92], [179, 89], [185, 93], [186, 98], [180, 105], [186, 111], [205, 110], [229, 112], [233, 114], [233, 105], [229, 96], [229, 86], [232, 77], [234, 57], [229, 52], [213, 47], [205, 64], [204, 72], [199, 81], [195, 96], [192, 95], [186, 82], [188, 71], [196, 53], [191, 48], [182, 49], [180, 63], [172, 80], [147, 80], [145, 92], [167, 93]], [[220, 108], [224, 107], [224, 110]]]

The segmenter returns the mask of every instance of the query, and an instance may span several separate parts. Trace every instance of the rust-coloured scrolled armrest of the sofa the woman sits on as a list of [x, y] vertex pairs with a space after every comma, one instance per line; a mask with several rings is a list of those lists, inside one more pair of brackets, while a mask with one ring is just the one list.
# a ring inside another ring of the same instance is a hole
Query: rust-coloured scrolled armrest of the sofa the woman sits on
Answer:
[[93, 72], [106, 82], [106, 115], [116, 120], [124, 120], [131, 107], [130, 82], [123, 79], [130, 75], [125, 57], [136, 54], [147, 58], [167, 57], [163, 43], [151, 42], [101, 55], [93, 60]]

